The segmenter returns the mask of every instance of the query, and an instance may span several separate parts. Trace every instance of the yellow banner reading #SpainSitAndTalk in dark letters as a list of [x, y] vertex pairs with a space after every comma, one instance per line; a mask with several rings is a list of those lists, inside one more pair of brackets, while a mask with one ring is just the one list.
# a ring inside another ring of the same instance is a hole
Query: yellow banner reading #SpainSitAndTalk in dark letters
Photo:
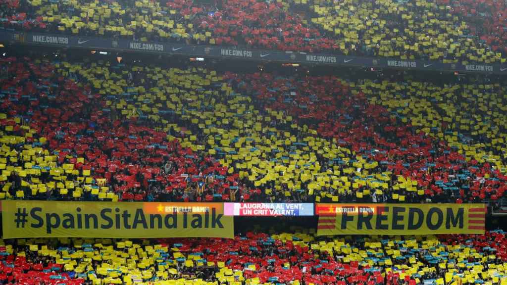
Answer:
[[2, 201], [4, 238], [234, 238], [223, 214], [223, 203]]

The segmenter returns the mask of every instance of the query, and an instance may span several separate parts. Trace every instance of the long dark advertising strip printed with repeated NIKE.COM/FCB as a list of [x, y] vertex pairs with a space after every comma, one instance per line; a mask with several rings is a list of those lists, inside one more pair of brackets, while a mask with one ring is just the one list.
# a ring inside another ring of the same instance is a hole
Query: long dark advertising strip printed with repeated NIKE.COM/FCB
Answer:
[[56, 35], [46, 33], [25, 33], [0, 29], [0, 41], [59, 46], [65, 48], [86, 48], [100, 50], [122, 50], [178, 54], [190, 57], [227, 57], [287, 63], [310, 63], [340, 66], [361, 66], [374, 68], [397, 68], [407, 70], [446, 70], [449, 72], [474, 72], [507, 74], [507, 64], [461, 64], [442, 63], [425, 60], [402, 60], [384, 57], [359, 57], [333, 54], [310, 54], [303, 52], [283, 52], [268, 50], [238, 49], [220, 46], [187, 45], [162, 42], [135, 42], [124, 39], [111, 40], [76, 35]]

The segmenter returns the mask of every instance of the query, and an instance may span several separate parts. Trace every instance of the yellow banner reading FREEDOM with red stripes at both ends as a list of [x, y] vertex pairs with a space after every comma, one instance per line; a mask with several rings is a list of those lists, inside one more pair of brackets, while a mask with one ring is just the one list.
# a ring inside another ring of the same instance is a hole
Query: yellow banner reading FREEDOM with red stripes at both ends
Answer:
[[316, 204], [317, 235], [483, 234], [484, 204]]

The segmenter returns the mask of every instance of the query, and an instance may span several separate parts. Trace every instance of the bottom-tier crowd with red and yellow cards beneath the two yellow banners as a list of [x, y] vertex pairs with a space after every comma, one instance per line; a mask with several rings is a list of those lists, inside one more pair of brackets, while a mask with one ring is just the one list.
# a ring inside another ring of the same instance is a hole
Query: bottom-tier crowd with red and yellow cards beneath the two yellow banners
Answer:
[[[311, 230], [310, 230], [311, 231]], [[248, 232], [234, 239], [0, 240], [9, 284], [501, 284], [507, 239], [484, 235], [315, 237]]]

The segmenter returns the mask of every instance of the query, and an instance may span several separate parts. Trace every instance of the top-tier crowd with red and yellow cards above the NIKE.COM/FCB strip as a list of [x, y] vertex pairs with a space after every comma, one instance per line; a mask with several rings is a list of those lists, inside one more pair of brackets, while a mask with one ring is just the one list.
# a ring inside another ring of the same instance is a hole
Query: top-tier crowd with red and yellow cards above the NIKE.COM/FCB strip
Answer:
[[495, 15], [505, 8], [496, 1], [2, 0], [0, 4], [0, 24], [6, 29], [447, 63], [505, 62], [503, 16]]

